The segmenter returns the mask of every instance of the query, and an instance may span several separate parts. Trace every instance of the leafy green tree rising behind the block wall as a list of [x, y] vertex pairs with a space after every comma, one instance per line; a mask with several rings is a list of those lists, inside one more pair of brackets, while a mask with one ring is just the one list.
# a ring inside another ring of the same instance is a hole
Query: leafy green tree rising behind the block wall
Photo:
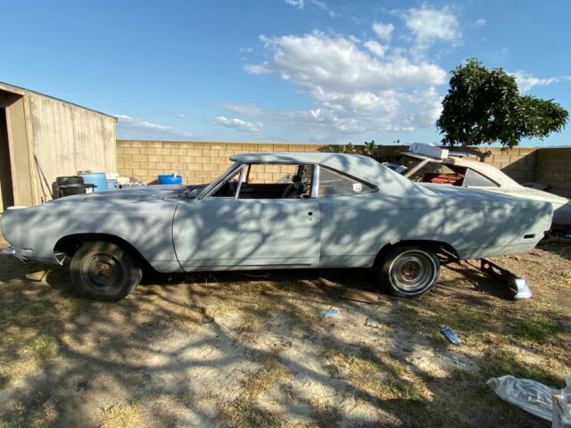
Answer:
[[451, 74], [436, 121], [443, 144], [514, 147], [522, 138], [545, 138], [567, 124], [569, 113], [558, 103], [520, 95], [516, 78], [502, 69], [488, 70], [470, 59]]

